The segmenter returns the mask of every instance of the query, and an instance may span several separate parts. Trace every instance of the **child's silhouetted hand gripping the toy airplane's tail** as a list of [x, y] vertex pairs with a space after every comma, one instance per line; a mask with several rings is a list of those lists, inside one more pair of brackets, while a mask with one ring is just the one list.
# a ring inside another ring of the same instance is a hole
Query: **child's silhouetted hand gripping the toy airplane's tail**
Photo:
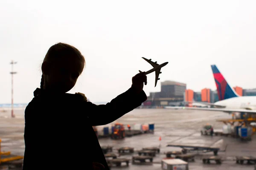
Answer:
[[137, 93], [140, 93], [143, 90], [143, 83], [147, 85], [147, 76], [145, 72], [141, 72], [132, 77], [132, 87]]

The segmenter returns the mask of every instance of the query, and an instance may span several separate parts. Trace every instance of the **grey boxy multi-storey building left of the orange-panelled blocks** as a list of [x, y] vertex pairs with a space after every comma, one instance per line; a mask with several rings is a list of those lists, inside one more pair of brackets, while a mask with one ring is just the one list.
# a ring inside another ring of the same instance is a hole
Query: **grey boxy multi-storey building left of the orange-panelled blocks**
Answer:
[[161, 82], [161, 91], [151, 92], [144, 103], [156, 106], [180, 105], [184, 101], [185, 91], [185, 83], [175, 81]]

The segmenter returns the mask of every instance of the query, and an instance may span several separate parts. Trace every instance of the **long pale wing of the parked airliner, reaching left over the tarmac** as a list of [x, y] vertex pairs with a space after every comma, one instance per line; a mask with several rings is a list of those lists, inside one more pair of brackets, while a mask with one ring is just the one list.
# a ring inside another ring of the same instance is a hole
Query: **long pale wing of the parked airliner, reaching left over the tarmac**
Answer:
[[256, 110], [247, 109], [227, 109], [227, 108], [195, 108], [195, 107], [180, 107], [180, 106], [166, 106], [165, 109], [187, 109], [187, 110], [200, 110], [200, 111], [223, 111], [223, 112], [245, 112], [256, 114]]

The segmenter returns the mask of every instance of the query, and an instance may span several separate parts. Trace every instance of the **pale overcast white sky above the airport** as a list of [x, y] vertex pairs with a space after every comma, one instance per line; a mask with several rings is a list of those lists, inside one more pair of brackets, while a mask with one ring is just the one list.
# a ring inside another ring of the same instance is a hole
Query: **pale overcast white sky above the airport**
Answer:
[[109, 102], [131, 87], [141, 57], [169, 62], [160, 82], [215, 90], [210, 65], [231, 86], [256, 88], [256, 1], [253, 0], [1, 0], [0, 103], [11, 102], [11, 59], [17, 61], [14, 102], [27, 103], [40, 86], [41, 62], [57, 42], [74, 45], [87, 65], [69, 93]]

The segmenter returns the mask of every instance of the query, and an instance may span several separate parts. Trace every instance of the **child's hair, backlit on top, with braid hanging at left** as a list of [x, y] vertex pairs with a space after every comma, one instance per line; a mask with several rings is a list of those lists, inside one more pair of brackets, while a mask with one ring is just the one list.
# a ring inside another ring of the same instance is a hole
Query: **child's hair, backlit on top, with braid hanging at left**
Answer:
[[[63, 59], [64, 57], [75, 57], [75, 59], [79, 60], [81, 63], [84, 63], [85, 65], [85, 59], [84, 56], [81, 54], [81, 52], [73, 47], [72, 45], [68, 45], [65, 43], [57, 43], [55, 45], [52, 45], [49, 50], [47, 51], [47, 54], [44, 57], [44, 62], [50, 62], [50, 63], [58, 63], [60, 59]], [[84, 69], [84, 65], [82, 70]], [[44, 74], [42, 73], [40, 88], [44, 88]]]

